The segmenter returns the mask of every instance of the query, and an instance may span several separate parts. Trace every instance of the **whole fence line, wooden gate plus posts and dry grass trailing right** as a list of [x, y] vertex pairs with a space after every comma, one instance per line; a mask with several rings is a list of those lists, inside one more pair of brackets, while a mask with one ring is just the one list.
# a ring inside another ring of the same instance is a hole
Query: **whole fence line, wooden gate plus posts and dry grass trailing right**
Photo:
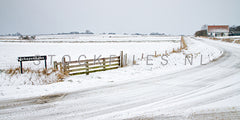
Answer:
[[[171, 53], [181, 52], [182, 49], [187, 49], [187, 44], [184, 41], [184, 37], [181, 37], [180, 48], [174, 49], [171, 52], [165, 51], [165, 53], [158, 54], [157, 51], [154, 52], [154, 57], [169, 55]], [[141, 60], [144, 59], [144, 54], [142, 53]], [[106, 71], [117, 69], [119, 67], [124, 67], [128, 65], [127, 54], [123, 55], [121, 51], [120, 56], [100, 58], [100, 59], [87, 59], [80, 61], [65, 61], [65, 58], [62, 62], [54, 61], [54, 68], [60, 70], [66, 75], [79, 75], [86, 74], [89, 75], [93, 72]], [[136, 64], [135, 55], [133, 56], [133, 64]]]

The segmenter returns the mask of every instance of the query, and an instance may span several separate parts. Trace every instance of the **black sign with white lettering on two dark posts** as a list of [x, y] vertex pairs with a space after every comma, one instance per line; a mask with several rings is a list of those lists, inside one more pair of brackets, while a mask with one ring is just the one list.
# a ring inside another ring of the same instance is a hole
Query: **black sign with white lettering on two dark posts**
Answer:
[[20, 67], [21, 67], [21, 73], [23, 73], [23, 70], [22, 70], [22, 62], [23, 61], [39, 61], [39, 60], [45, 61], [45, 69], [47, 69], [47, 56], [18, 57], [18, 62], [20, 62]]

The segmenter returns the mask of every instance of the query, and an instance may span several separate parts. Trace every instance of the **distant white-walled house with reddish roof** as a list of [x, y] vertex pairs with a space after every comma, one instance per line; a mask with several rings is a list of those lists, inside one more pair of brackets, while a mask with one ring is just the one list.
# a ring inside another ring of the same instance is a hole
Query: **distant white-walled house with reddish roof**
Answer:
[[209, 37], [228, 36], [228, 25], [208, 25], [207, 33]]

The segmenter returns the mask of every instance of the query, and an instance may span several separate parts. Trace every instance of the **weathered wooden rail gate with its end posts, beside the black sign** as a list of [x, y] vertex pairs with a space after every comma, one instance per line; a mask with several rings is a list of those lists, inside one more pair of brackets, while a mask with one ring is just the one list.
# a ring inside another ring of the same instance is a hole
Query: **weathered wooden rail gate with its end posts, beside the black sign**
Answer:
[[54, 61], [54, 68], [60, 70], [66, 75], [79, 75], [99, 71], [106, 71], [123, 67], [123, 52], [120, 56], [99, 58], [99, 59], [86, 59], [77, 61]]

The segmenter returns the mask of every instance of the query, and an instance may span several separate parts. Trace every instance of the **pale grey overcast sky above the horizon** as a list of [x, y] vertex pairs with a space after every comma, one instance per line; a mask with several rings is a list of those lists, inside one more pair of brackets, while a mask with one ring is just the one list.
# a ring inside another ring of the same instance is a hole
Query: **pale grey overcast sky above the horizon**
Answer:
[[240, 0], [0, 0], [0, 34], [193, 34], [203, 24], [240, 25]]

